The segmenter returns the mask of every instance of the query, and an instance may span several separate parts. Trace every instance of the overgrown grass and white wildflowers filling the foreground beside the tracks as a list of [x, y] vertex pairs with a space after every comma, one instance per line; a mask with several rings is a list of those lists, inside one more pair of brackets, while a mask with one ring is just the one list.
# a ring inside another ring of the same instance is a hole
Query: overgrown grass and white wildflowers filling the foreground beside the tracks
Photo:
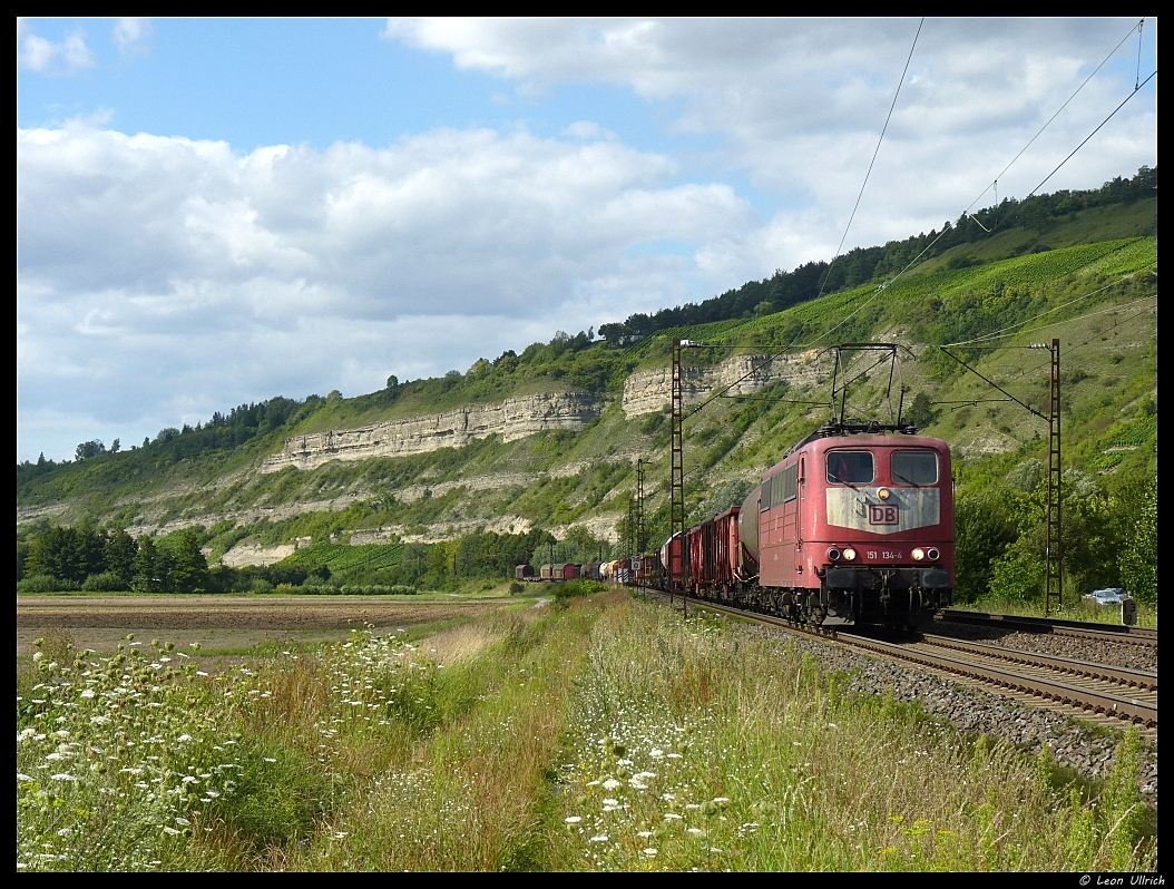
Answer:
[[777, 638], [623, 594], [218, 678], [137, 651], [50, 652], [19, 683], [18, 867], [1156, 864], [1135, 738], [1088, 799], [1046, 760], [845, 698]]

